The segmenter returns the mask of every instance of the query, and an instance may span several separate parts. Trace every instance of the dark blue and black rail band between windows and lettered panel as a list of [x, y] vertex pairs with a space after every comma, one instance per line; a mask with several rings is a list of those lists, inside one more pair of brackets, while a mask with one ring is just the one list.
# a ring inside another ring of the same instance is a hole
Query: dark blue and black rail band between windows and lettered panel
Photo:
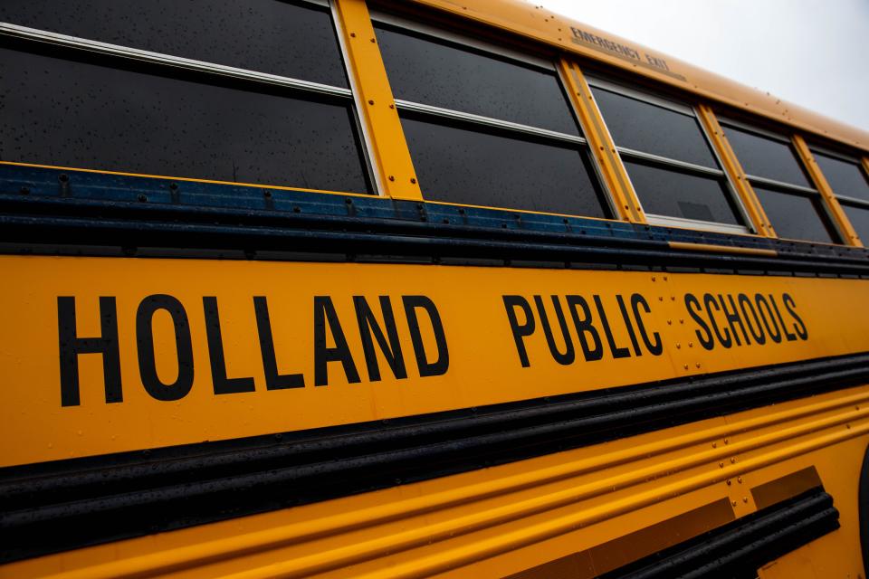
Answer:
[[[698, 247], [673, 248], [669, 242]], [[24, 166], [0, 166], [0, 243], [4, 252], [102, 254], [115, 248], [123, 255], [148, 255], [165, 248], [181, 257], [224, 250], [247, 258], [289, 252], [370, 261], [869, 275], [869, 252], [844, 246], [371, 195]], [[703, 245], [724, 251], [707, 251]], [[740, 250], [748, 252], [733, 252]]]

